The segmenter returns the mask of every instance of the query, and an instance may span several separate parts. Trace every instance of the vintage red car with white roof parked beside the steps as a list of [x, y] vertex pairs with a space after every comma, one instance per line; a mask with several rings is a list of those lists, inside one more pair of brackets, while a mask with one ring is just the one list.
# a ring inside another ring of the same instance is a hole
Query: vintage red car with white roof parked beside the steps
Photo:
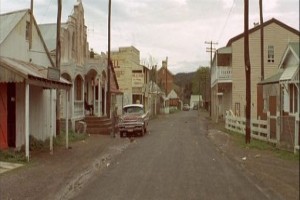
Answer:
[[142, 104], [126, 105], [118, 122], [120, 137], [133, 134], [143, 136], [147, 132], [148, 123], [149, 113], [145, 112]]

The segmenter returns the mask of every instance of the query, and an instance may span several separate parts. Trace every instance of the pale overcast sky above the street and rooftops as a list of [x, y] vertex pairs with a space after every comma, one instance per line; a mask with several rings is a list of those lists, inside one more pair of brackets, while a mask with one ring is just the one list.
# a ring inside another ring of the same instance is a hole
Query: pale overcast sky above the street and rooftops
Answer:
[[[78, 0], [62, 0], [62, 22]], [[111, 48], [135, 46], [141, 63], [168, 57], [174, 74], [209, 66], [209, 45], [223, 47], [244, 31], [243, 0], [111, 0]], [[108, 0], [82, 0], [90, 48], [107, 52]], [[249, 27], [259, 22], [259, 0], [249, 0]], [[25, 9], [30, 0], [0, 0], [0, 12]], [[56, 23], [57, 0], [34, 0], [37, 23]], [[264, 21], [276, 18], [299, 30], [299, 0], [263, 0]]]

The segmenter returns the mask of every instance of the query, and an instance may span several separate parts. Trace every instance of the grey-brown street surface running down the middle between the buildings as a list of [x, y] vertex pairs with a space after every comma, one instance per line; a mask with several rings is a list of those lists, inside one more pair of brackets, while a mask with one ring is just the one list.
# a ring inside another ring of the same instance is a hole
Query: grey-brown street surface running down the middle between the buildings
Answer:
[[159, 116], [73, 199], [279, 199], [206, 134], [196, 111]]

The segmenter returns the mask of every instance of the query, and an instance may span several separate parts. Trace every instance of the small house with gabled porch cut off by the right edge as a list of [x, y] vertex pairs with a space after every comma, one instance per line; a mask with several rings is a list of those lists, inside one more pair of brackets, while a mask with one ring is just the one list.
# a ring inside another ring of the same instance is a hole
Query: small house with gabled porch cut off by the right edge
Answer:
[[[270, 138], [299, 150], [299, 42], [287, 45], [277, 73], [258, 84], [262, 86], [261, 115], [269, 118]], [[274, 117], [271, 117], [274, 116]]]

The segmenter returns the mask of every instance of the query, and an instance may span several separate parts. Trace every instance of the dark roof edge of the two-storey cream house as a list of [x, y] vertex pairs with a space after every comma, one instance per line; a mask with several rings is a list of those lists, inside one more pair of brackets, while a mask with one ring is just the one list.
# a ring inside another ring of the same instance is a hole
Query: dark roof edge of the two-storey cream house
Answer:
[[[277, 20], [277, 19], [275, 19], [275, 18], [272, 18], [272, 19], [270, 19], [270, 20], [264, 22], [264, 23], [263, 23], [263, 27], [266, 27], [266, 26], [268, 26], [268, 25], [270, 25], [270, 24], [272, 24], [272, 23], [278, 24], [279, 26], [281, 26], [281, 27], [283, 27], [283, 28], [289, 30], [289, 31], [292, 32], [292, 33], [295, 33], [295, 34], [298, 35], [298, 36], [300, 35], [300, 32], [299, 32], [299, 31], [297, 31], [296, 29], [294, 29], [294, 28], [292, 28], [292, 27], [290, 27], [290, 26], [288, 26], [288, 25], [282, 23], [281, 21], [279, 21], [279, 20]], [[250, 30], [249, 30], [249, 34], [255, 32], [255, 31], [260, 30], [260, 27], [261, 27], [261, 25], [258, 25], [258, 26], [256, 26], [256, 27], [250, 29]], [[239, 35], [237, 35], [237, 36], [231, 38], [231, 39], [228, 41], [228, 43], [227, 43], [226, 46], [227, 46], [227, 47], [231, 46], [231, 44], [232, 44], [233, 42], [235, 42], [235, 41], [237, 41], [237, 40], [239, 40], [239, 39], [241, 39], [241, 38], [243, 38], [243, 37], [244, 37], [244, 33], [241, 33], [241, 34], [239, 34]]]

